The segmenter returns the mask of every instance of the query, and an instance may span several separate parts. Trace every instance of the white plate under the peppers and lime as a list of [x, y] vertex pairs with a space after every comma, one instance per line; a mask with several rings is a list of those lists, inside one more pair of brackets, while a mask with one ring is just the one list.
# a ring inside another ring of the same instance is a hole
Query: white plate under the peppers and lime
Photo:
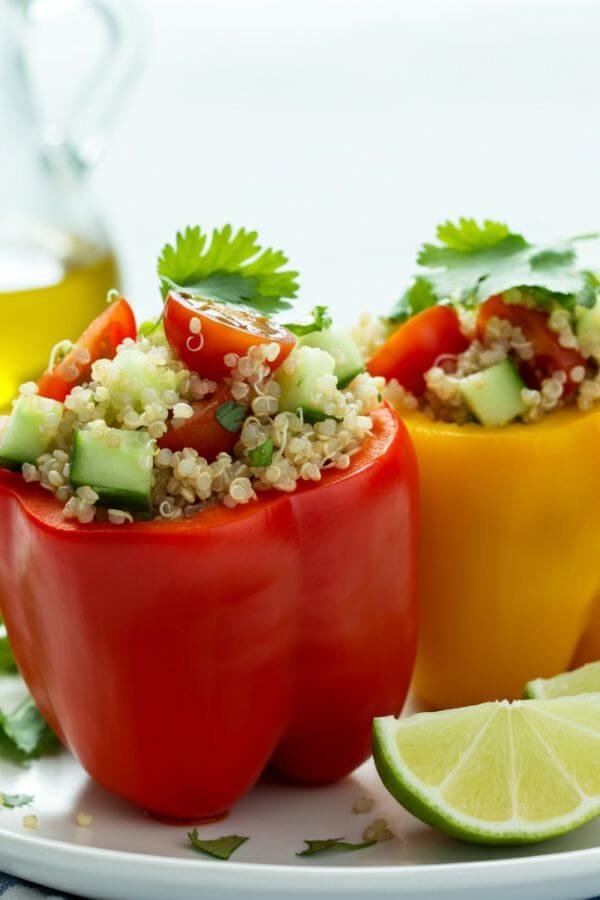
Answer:
[[[22, 688], [0, 681], [0, 708]], [[108, 739], [110, 737], [108, 736]], [[182, 752], [185, 752], [182, 751]], [[250, 898], [527, 897], [567, 900], [600, 892], [600, 820], [535, 848], [495, 850], [459, 843], [416, 821], [389, 797], [372, 763], [326, 788], [262, 783], [202, 835], [250, 838], [229, 862], [194, 852], [181, 825], [164, 825], [95, 785], [66, 752], [22, 769], [0, 761], [0, 790], [34, 795], [37, 831], [23, 809], [0, 813], [0, 868], [97, 900], [250, 900]], [[364, 794], [368, 815], [351, 812]], [[78, 812], [91, 828], [78, 828]], [[25, 811], [27, 812], [27, 810]], [[384, 817], [396, 837], [356, 853], [298, 859], [304, 838], [345, 836]]]

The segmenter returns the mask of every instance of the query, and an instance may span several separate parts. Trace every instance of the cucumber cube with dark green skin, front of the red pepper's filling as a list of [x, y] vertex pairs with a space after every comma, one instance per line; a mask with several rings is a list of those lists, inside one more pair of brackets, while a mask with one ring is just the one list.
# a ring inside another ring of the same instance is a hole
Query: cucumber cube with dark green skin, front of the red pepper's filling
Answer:
[[[111, 447], [111, 442], [119, 445]], [[71, 484], [89, 485], [102, 506], [150, 511], [155, 441], [147, 431], [109, 428], [102, 437], [76, 430], [71, 456]]]

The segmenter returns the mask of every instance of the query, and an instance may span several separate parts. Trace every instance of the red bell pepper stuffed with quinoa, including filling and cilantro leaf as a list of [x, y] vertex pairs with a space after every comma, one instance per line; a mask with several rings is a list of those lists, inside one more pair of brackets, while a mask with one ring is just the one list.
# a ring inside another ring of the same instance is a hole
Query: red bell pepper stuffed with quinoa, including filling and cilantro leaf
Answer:
[[[256, 235], [188, 229], [0, 421], [0, 603], [104, 787], [214, 817], [267, 766], [339, 778], [416, 650], [417, 471], [352, 339]], [[273, 314], [279, 313], [279, 321]]]

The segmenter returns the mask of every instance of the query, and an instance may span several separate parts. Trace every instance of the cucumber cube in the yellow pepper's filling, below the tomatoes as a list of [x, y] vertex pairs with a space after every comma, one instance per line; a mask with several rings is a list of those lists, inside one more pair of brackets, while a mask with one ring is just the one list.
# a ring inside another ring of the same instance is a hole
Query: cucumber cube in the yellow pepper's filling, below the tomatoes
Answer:
[[525, 412], [525, 383], [509, 359], [462, 378], [459, 386], [470, 411], [488, 428], [507, 425]]

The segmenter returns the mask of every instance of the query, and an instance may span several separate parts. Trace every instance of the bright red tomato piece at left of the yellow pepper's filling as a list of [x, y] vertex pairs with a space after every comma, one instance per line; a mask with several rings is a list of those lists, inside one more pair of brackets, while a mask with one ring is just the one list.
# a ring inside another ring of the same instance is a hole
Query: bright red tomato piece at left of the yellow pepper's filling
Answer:
[[395, 378], [415, 397], [425, 393], [425, 372], [440, 356], [455, 356], [469, 346], [456, 312], [432, 306], [404, 322], [375, 351], [367, 369], [371, 375]]

